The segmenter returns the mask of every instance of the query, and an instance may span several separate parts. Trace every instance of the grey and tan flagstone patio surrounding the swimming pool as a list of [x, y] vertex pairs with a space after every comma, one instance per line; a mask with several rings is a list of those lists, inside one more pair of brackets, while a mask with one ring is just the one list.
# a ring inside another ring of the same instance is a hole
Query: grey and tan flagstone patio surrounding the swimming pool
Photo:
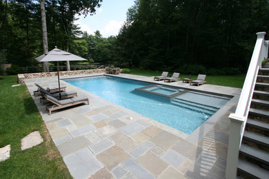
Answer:
[[[119, 76], [153, 82], [153, 77]], [[26, 80], [32, 98], [37, 82], [52, 86], [57, 85], [57, 78]], [[182, 81], [165, 84], [235, 97], [190, 135], [64, 81], [61, 85], [66, 85], [68, 91], [88, 96], [90, 105], [59, 110], [50, 116], [39, 98], [34, 101], [74, 178], [224, 178], [228, 115], [235, 110], [240, 89], [196, 87]]]

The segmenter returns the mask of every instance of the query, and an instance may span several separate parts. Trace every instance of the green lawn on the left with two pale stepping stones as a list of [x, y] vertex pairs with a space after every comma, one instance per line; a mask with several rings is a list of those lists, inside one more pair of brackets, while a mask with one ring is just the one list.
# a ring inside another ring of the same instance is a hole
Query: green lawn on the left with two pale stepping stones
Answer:
[[[17, 76], [0, 76], [0, 147], [11, 145], [0, 162], [0, 178], [72, 178], [43, 123], [26, 85]], [[43, 143], [21, 151], [21, 138], [39, 131]]]

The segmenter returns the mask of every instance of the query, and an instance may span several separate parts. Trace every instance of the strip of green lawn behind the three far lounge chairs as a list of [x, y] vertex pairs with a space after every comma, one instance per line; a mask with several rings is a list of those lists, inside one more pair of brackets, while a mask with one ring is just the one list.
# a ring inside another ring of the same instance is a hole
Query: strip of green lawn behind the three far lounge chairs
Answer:
[[[154, 70], [141, 70], [138, 68], [131, 68], [131, 74], [137, 74], [142, 76], [159, 76], [161, 75], [161, 71], [154, 71]], [[172, 72], [169, 73], [172, 76]], [[221, 86], [228, 86], [228, 87], [243, 87], [243, 82], [245, 80], [246, 74], [238, 74], [238, 75], [227, 75], [227, 76], [213, 76], [207, 75], [206, 82], [212, 85], [221, 85]], [[179, 78], [181, 80], [183, 78], [189, 78], [188, 74], [180, 74]], [[197, 78], [197, 75], [192, 75], [193, 79]]]

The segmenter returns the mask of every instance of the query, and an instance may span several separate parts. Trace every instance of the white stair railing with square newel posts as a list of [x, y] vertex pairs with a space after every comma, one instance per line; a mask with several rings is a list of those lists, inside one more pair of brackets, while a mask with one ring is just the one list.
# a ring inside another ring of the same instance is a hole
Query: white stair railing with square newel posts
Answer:
[[245, 130], [250, 103], [252, 100], [253, 91], [261, 67], [262, 59], [268, 57], [268, 41], [264, 41], [266, 32], [257, 33], [257, 41], [253, 50], [248, 73], [246, 74], [245, 82], [243, 83], [242, 92], [237, 104], [235, 114], [230, 114], [230, 136], [228, 144], [228, 155], [226, 164], [226, 178], [237, 178], [237, 165], [243, 131]]

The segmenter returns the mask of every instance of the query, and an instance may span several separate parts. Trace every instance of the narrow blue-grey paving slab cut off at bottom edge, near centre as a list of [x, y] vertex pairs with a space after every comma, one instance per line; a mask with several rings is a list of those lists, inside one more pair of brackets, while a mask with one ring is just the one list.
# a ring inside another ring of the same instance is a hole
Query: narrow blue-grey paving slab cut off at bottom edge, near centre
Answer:
[[132, 175], [134, 175], [137, 179], [153, 179], [155, 178], [154, 176], [152, 176], [152, 174], [150, 174], [146, 169], [144, 169], [143, 167], [141, 167], [141, 165], [139, 165], [139, 163], [137, 163], [134, 159], [129, 158], [128, 160], [126, 160], [125, 162], [123, 162], [123, 167], [126, 167], [126, 169], [128, 171], [130, 171], [132, 173]]

